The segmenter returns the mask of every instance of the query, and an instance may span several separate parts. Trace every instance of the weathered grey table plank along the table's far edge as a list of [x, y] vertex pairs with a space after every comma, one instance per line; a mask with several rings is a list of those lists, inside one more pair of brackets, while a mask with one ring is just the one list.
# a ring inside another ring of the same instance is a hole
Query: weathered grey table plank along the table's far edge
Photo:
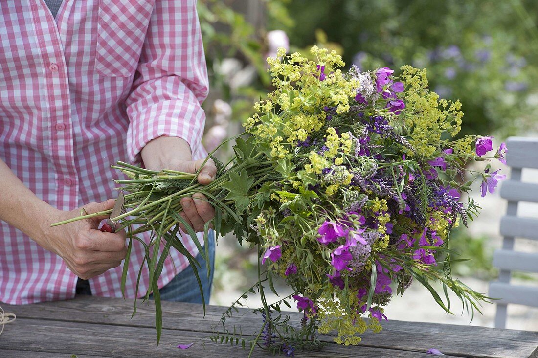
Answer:
[[[78, 322], [95, 322], [108, 325], [153, 326], [153, 308], [139, 305], [138, 312], [131, 320], [132, 300], [86, 297], [69, 301], [58, 301], [25, 306], [4, 306], [4, 310], [16, 313], [19, 318], [41, 318]], [[218, 322], [224, 307], [208, 306], [206, 319], [202, 320], [200, 305], [163, 302], [164, 327], [171, 331], [164, 335], [183, 334], [177, 331], [211, 332]], [[290, 312], [292, 321], [299, 322], [301, 314]], [[227, 321], [229, 328], [240, 324], [243, 333], [251, 334], [261, 326], [261, 317], [246, 310], [240, 310]], [[380, 333], [364, 333], [362, 347], [383, 347], [426, 352], [429, 348], [460, 356], [506, 356], [527, 357], [538, 345], [538, 333], [492, 329], [485, 327], [439, 325], [420, 322], [384, 321]], [[123, 327], [117, 327], [123, 330]], [[155, 340], [154, 329], [148, 331]], [[320, 339], [331, 341], [331, 335]], [[457, 342], [457, 343], [455, 343]], [[466, 355], [465, 355], [466, 354]]]

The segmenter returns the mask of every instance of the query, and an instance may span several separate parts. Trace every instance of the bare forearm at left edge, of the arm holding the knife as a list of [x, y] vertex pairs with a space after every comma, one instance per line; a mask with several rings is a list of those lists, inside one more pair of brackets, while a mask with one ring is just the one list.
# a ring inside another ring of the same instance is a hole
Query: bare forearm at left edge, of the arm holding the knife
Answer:
[[23, 231], [38, 242], [52, 222], [56, 209], [39, 199], [11, 169], [0, 160], [0, 219]]

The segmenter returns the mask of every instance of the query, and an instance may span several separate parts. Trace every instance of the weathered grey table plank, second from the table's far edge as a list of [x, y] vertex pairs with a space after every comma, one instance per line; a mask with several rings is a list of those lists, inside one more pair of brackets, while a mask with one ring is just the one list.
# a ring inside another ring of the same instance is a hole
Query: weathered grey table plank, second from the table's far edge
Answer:
[[[61, 354], [97, 355], [107, 357], [246, 357], [248, 350], [241, 346], [222, 345], [209, 341], [208, 333], [164, 332], [159, 346], [151, 328], [114, 327], [78, 322], [18, 319], [4, 331], [0, 349], [58, 352]], [[177, 345], [195, 342], [188, 349]], [[0, 352], [2, 352], [0, 350]], [[297, 357], [334, 355], [338, 357], [431, 357], [424, 352], [406, 352], [378, 347], [352, 347], [330, 344], [321, 352], [296, 352]], [[272, 356], [256, 348], [254, 357]]]

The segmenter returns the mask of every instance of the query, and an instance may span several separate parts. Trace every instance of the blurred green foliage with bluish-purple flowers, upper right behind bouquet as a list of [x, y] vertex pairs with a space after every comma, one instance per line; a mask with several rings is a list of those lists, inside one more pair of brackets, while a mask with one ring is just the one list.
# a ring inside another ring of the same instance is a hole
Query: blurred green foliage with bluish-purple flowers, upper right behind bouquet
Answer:
[[535, 0], [289, 0], [294, 24], [270, 19], [292, 45], [323, 30], [346, 64], [428, 70], [430, 88], [463, 103], [462, 134], [504, 137], [538, 116]]

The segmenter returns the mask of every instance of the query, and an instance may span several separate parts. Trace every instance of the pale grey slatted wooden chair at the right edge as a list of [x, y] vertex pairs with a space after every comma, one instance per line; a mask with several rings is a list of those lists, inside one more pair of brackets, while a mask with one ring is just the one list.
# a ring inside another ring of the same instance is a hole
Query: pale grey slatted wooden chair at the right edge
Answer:
[[538, 169], [538, 138], [510, 137], [506, 147], [506, 164], [512, 171], [510, 179], [502, 182], [500, 195], [508, 205], [500, 222], [502, 249], [493, 255], [499, 279], [490, 283], [489, 290], [490, 297], [501, 298], [494, 301], [497, 303], [495, 328], [505, 328], [508, 304], [538, 307], [538, 287], [510, 283], [513, 271], [538, 273], [538, 253], [514, 251], [516, 238], [538, 240], [538, 219], [518, 216], [520, 201], [538, 203], [538, 184], [521, 181], [523, 168]]

